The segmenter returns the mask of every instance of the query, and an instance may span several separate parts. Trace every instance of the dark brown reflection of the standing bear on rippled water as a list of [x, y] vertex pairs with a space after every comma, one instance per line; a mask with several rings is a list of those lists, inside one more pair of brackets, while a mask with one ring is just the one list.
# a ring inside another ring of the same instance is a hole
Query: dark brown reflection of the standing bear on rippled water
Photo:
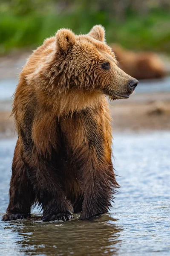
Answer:
[[24, 221], [17, 225], [24, 255], [116, 255], [121, 228], [109, 214], [90, 221]]

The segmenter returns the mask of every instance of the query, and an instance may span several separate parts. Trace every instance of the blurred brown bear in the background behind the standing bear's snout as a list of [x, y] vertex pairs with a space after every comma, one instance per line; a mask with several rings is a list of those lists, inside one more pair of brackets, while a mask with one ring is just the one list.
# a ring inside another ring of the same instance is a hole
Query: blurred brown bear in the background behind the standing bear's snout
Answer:
[[118, 44], [112, 44], [112, 50], [119, 62], [118, 66], [137, 79], [162, 78], [166, 75], [164, 64], [153, 52], [131, 52]]

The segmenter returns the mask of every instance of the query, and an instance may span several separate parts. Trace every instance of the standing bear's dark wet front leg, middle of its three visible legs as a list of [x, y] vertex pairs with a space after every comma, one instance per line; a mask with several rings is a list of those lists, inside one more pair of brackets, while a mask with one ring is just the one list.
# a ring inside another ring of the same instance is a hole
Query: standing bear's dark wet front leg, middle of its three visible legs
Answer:
[[[34, 153], [33, 153], [34, 152]], [[31, 156], [25, 155], [27, 173], [36, 193], [37, 201], [43, 209], [43, 221], [69, 220], [73, 217], [72, 206], [66, 200], [57, 167], [58, 156], [39, 155], [34, 150]]]

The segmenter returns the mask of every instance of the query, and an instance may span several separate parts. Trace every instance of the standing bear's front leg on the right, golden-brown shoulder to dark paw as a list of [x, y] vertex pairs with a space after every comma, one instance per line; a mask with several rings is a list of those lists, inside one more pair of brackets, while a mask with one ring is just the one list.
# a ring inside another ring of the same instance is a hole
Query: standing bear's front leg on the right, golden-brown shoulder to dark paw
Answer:
[[119, 187], [111, 160], [110, 119], [103, 105], [75, 113], [62, 122], [62, 130], [71, 148], [69, 157], [76, 165], [81, 183], [81, 220], [108, 212]]

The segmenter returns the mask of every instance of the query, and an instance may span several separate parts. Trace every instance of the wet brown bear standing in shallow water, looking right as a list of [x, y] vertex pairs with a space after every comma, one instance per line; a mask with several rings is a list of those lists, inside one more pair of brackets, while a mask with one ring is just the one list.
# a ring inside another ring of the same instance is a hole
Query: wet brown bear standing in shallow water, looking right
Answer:
[[4, 221], [43, 221], [107, 212], [118, 183], [111, 160], [110, 99], [126, 99], [138, 81], [117, 67], [102, 26], [87, 35], [59, 30], [29, 57], [14, 96], [18, 140]]

